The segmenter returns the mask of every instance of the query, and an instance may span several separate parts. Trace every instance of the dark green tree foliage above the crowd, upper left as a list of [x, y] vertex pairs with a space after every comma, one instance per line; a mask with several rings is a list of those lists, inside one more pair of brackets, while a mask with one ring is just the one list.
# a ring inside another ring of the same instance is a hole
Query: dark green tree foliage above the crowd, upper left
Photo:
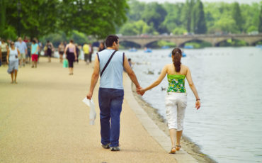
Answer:
[[115, 33], [115, 28], [127, 19], [127, 0], [20, 1], [21, 12], [18, 12], [16, 1], [0, 1], [0, 29], [12, 26], [16, 32], [21, 31], [21, 36], [29, 35], [30, 38], [40, 38], [61, 30], [67, 35], [78, 30], [96, 38], [105, 38]]

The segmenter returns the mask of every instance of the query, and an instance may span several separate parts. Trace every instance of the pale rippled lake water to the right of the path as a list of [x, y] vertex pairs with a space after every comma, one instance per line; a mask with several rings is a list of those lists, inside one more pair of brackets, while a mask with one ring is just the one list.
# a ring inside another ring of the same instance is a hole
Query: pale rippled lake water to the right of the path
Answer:
[[[125, 53], [137, 62], [133, 67], [141, 86], [149, 86], [165, 64], [167, 50]], [[186, 81], [188, 106], [183, 134], [217, 162], [262, 162], [262, 50], [256, 47], [209, 47], [184, 50], [182, 58], [192, 73], [202, 106]], [[151, 71], [154, 74], [148, 74]], [[168, 85], [147, 91], [143, 99], [165, 118], [164, 98]]]

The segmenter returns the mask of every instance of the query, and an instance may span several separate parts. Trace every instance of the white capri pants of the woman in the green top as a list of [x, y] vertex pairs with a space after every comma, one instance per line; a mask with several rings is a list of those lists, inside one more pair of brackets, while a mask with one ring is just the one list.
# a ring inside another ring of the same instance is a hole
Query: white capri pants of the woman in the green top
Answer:
[[166, 120], [169, 129], [183, 130], [186, 112], [186, 93], [168, 92], [166, 95]]

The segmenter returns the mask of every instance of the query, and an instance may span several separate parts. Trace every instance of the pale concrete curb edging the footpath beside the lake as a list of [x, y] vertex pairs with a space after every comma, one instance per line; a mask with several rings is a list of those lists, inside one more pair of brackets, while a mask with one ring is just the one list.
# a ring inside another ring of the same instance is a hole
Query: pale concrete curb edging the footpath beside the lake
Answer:
[[[125, 80], [125, 99], [127, 99], [127, 103], [132, 108], [132, 110], [135, 112], [135, 115], [139, 119], [139, 121], [142, 123], [144, 128], [147, 130], [149, 135], [154, 137], [156, 142], [159, 142], [159, 145], [166, 150], [166, 152], [170, 152], [171, 150], [171, 142], [170, 138], [158, 128], [158, 126], [154, 123], [154, 121], [149, 118], [147, 113], [139, 106], [139, 103], [135, 100], [135, 97], [132, 94], [132, 88], [131, 88], [131, 81], [130, 79]], [[196, 159], [190, 156], [186, 151], [184, 151], [182, 148], [180, 151], [177, 151], [176, 154], [173, 154], [173, 156], [176, 158], [176, 161], [178, 163], [196, 163], [198, 162]]]

